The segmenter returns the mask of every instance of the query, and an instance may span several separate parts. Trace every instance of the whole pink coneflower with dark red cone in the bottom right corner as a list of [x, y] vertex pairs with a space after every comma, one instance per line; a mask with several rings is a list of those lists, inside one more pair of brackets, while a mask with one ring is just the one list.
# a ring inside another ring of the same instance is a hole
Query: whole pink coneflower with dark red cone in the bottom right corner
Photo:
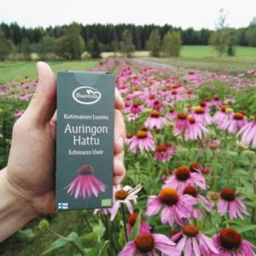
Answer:
[[220, 230], [218, 235], [212, 237], [212, 241], [218, 249], [218, 253], [207, 254], [210, 256], [255, 256], [252, 243], [241, 238], [241, 235], [233, 229]]

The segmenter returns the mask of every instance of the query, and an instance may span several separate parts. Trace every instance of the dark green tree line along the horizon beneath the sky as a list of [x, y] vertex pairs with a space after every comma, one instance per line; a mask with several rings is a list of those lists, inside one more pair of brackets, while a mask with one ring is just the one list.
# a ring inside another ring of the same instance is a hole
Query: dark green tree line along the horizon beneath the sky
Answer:
[[[80, 59], [84, 49], [90, 53], [91, 57], [98, 57], [102, 51], [126, 52], [125, 47], [128, 46], [131, 52], [150, 49], [150, 44], [151, 48], [154, 48], [152, 37], [154, 39], [156, 33], [157, 40], [160, 38], [163, 43], [159, 51], [167, 53], [169, 50], [170, 54], [170, 49], [166, 49], [166, 42], [172, 41], [172, 37], [178, 37], [176, 40], [180, 41], [180, 44], [207, 45], [209, 42], [214, 43], [212, 35], [215, 33], [216, 36], [217, 31], [206, 28], [195, 30], [192, 27], [182, 29], [171, 25], [83, 25], [75, 22], [65, 26], [26, 28], [19, 26], [16, 22], [10, 24], [3, 22], [0, 24], [0, 60], [16, 53], [22, 53], [25, 59], [29, 59], [32, 52], [37, 52], [43, 59], [49, 58], [50, 54], [63, 59]], [[225, 28], [225, 32], [231, 38], [228, 40], [230, 45], [256, 46], [255, 19], [247, 27]], [[167, 35], [169, 39], [166, 38]], [[172, 35], [171, 39], [170, 35]], [[158, 55], [154, 53], [154, 49], [151, 54]]]

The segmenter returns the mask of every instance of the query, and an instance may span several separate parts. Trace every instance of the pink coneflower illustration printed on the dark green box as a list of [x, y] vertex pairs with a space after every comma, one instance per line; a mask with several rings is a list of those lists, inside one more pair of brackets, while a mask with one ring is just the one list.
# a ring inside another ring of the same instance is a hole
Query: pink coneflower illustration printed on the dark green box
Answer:
[[79, 196], [84, 200], [90, 198], [91, 195], [96, 197], [104, 192], [107, 186], [97, 179], [94, 175], [94, 168], [90, 165], [79, 167], [79, 176], [72, 183], [69, 183], [66, 188], [69, 195], [74, 195], [75, 199]]

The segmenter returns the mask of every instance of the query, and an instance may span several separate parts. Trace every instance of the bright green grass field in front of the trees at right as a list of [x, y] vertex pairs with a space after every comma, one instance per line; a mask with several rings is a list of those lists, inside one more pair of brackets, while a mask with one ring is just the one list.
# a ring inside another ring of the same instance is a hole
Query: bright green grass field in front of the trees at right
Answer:
[[178, 58], [144, 58], [143, 60], [192, 70], [236, 74], [256, 69], [256, 48], [239, 46], [236, 47], [236, 56], [218, 57], [211, 46], [185, 45]]

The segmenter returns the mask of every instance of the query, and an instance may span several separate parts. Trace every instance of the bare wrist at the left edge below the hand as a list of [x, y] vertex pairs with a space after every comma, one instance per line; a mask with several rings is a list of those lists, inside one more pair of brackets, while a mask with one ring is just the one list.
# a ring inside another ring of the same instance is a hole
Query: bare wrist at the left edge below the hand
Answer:
[[0, 171], [0, 242], [38, 216], [31, 203], [12, 188], [6, 172], [6, 168]]

